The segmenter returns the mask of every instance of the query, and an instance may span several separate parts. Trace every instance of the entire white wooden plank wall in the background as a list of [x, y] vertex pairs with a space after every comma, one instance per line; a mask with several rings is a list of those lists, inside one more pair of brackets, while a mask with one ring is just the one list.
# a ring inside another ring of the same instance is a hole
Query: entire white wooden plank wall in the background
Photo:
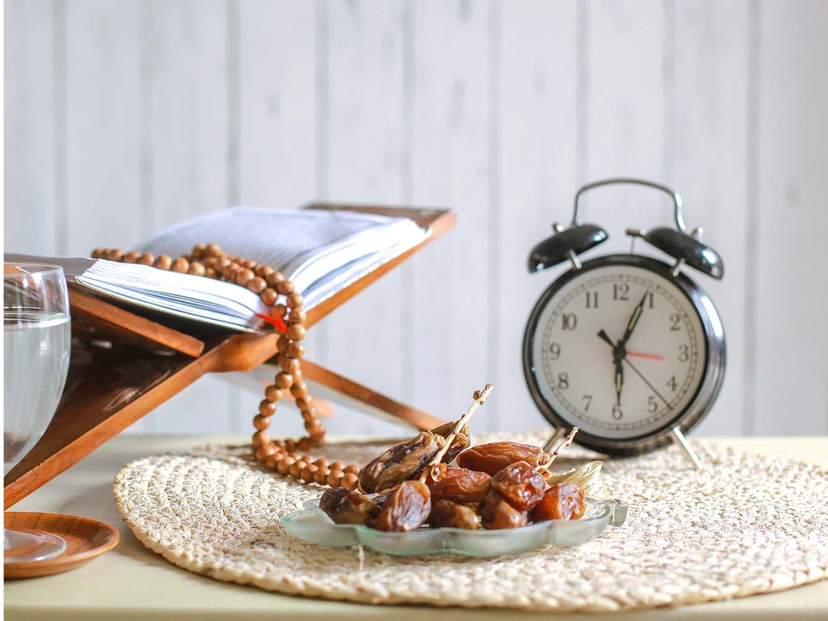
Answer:
[[[527, 252], [581, 183], [650, 177], [724, 256], [698, 278], [729, 346], [700, 433], [828, 432], [826, 2], [7, 0], [5, 24], [9, 251], [129, 248], [239, 203], [450, 206], [308, 356], [440, 416], [491, 379], [479, 427], [527, 429], [522, 328], [560, 273]], [[608, 189], [583, 217], [620, 250], [671, 210]], [[132, 429], [246, 431], [259, 398], [205, 378]]]

